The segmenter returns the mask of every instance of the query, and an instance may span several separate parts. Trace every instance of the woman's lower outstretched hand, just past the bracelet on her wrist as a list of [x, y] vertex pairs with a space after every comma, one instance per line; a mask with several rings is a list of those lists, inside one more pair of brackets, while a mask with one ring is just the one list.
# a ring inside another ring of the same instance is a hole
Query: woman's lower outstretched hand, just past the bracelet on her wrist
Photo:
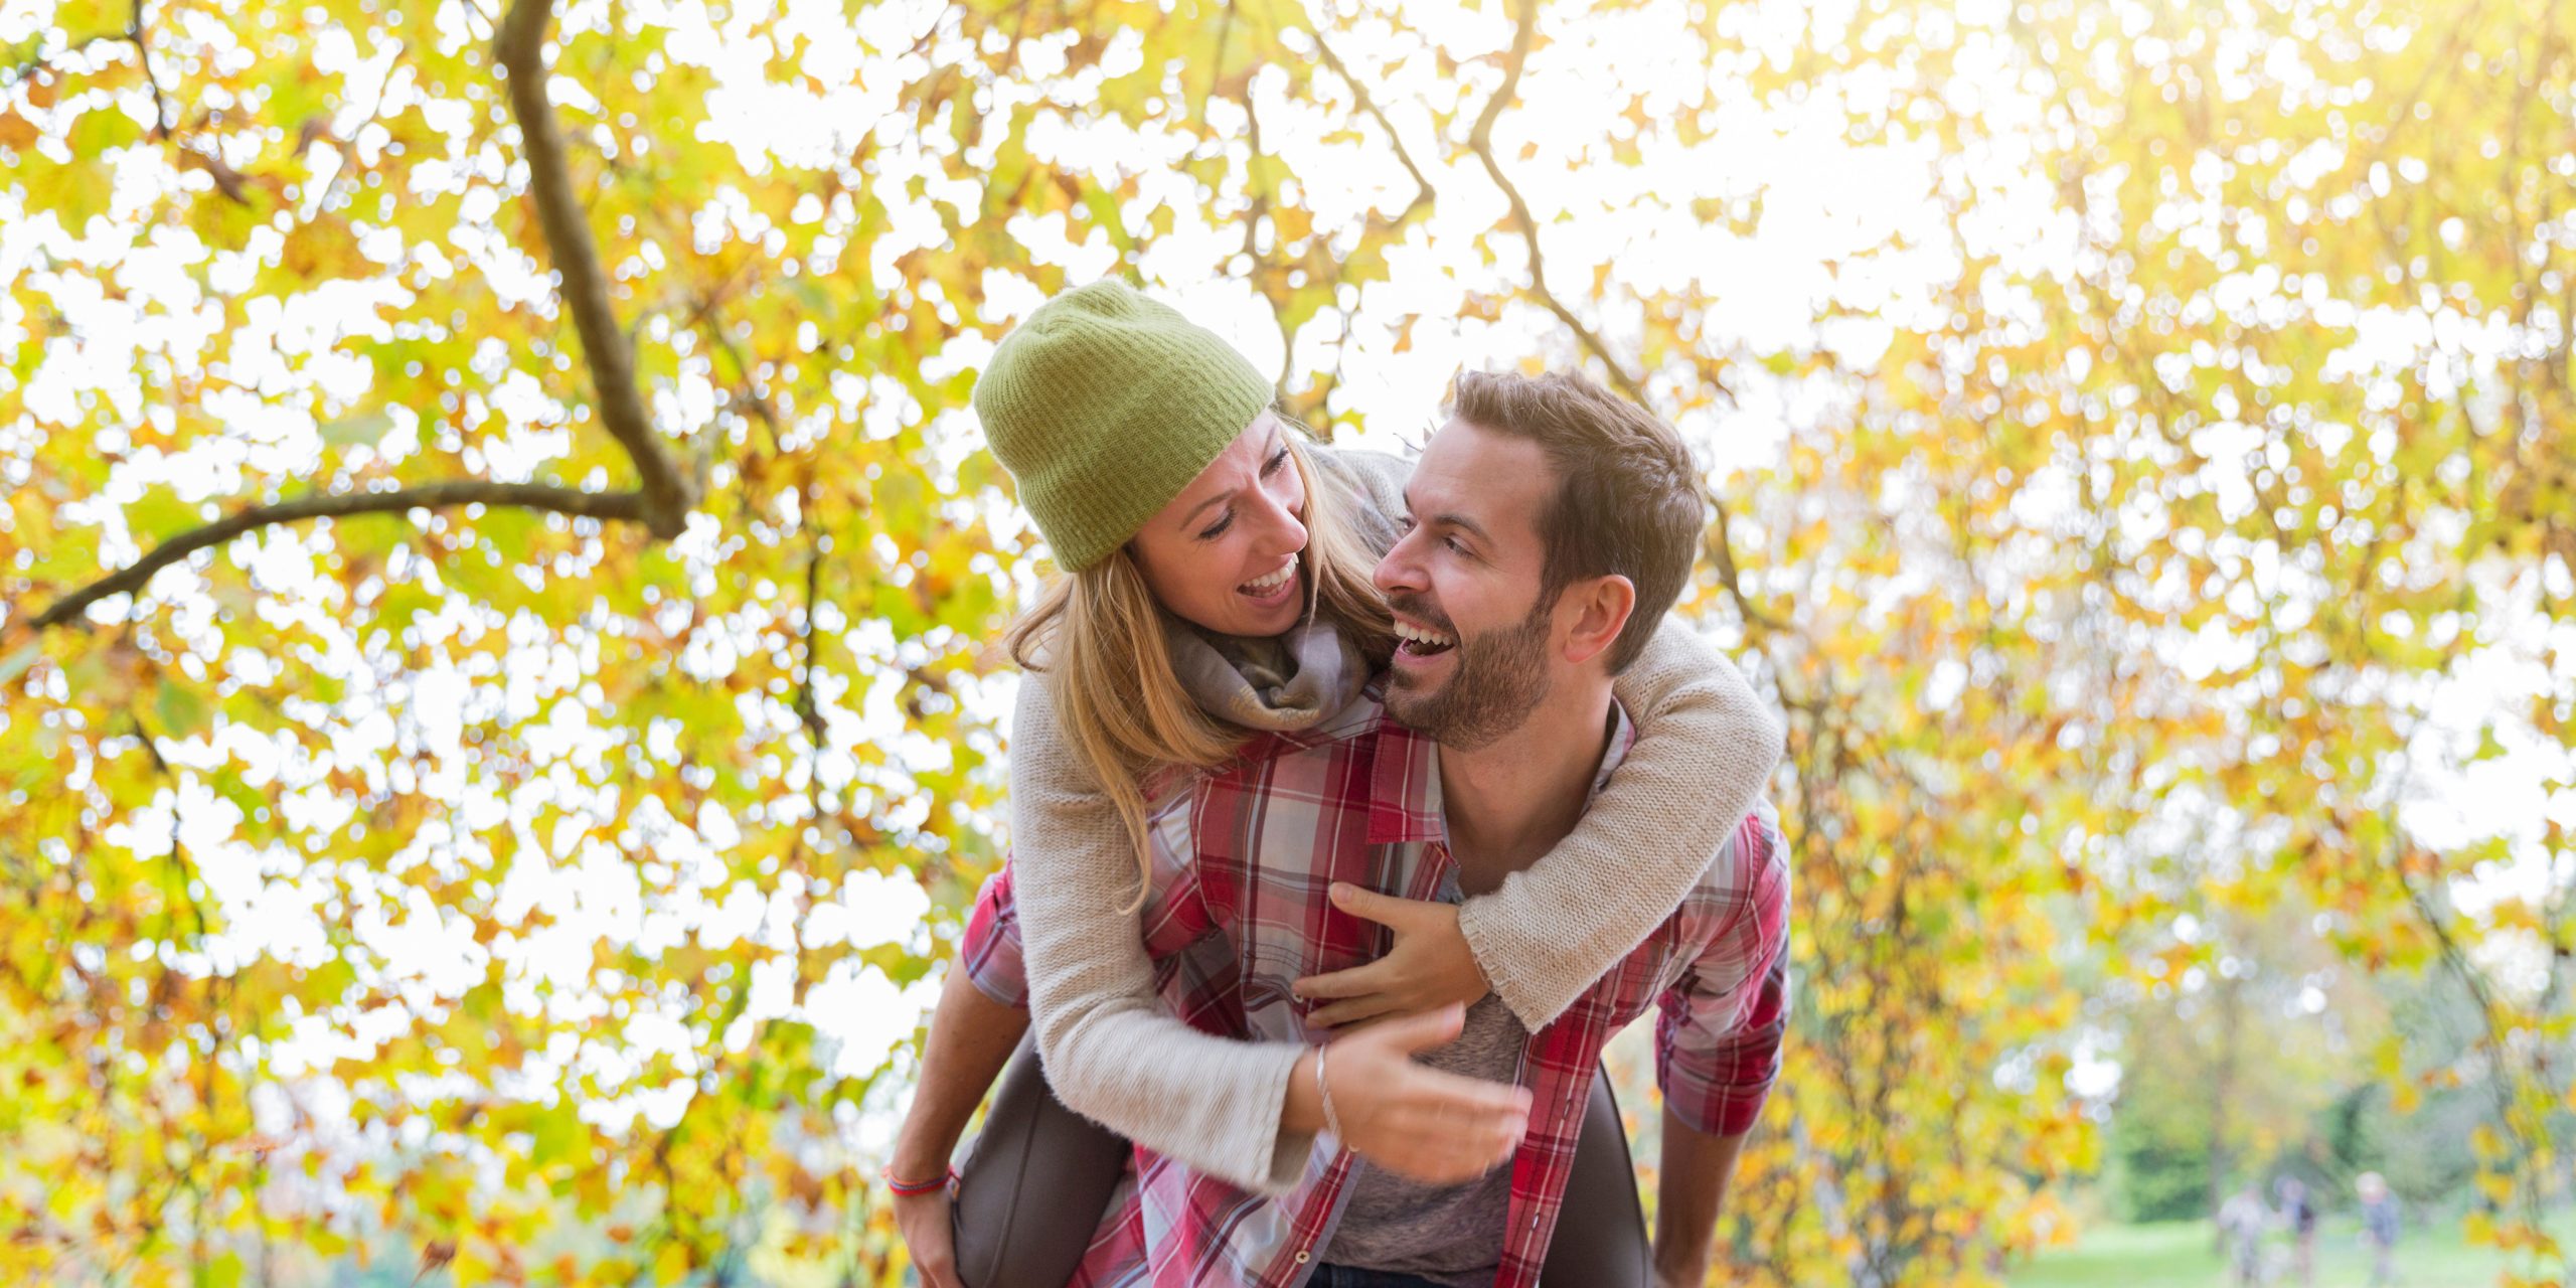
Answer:
[[[1370, 1025], [1332, 1043], [1324, 1084], [1342, 1144], [1363, 1159], [1425, 1185], [1458, 1185], [1512, 1157], [1530, 1131], [1530, 1092], [1414, 1064], [1458, 1036], [1466, 1010], [1450, 1005]], [[1296, 1077], [1314, 1079], [1306, 1056]]]

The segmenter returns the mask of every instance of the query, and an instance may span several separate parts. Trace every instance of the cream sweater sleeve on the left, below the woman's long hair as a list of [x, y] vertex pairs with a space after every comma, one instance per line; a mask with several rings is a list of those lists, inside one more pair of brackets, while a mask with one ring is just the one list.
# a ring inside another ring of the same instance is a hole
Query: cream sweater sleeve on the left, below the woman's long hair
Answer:
[[1038, 672], [1020, 683], [1010, 804], [1028, 1005], [1056, 1097], [1193, 1170], [1291, 1190], [1314, 1136], [1285, 1133], [1280, 1110], [1306, 1048], [1218, 1038], [1162, 1007], [1139, 920], [1123, 912], [1136, 848]]

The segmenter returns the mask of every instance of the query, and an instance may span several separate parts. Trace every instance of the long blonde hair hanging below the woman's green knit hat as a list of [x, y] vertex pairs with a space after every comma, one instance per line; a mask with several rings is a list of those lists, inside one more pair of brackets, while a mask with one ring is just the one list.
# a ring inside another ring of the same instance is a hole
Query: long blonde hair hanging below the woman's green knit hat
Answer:
[[[1396, 623], [1370, 582], [1376, 551], [1342, 515], [1345, 500], [1316, 474], [1306, 443], [1288, 435], [1288, 446], [1306, 484], [1306, 621], [1345, 631], [1360, 657], [1378, 667], [1396, 647]], [[1002, 636], [1020, 667], [1048, 672], [1056, 724], [1118, 806], [1136, 848], [1136, 899], [1126, 912], [1144, 907], [1154, 881], [1146, 778], [1211, 770], [1244, 742], [1244, 729], [1206, 714], [1172, 672], [1164, 634], [1172, 629], [1188, 626], [1164, 613], [1136, 559], [1118, 546], [1092, 567], [1054, 574], [1038, 603]]]

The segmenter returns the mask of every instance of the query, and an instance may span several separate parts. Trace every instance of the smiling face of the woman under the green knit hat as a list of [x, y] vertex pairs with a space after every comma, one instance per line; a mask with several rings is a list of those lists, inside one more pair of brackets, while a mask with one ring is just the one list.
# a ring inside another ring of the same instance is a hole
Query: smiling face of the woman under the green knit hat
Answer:
[[1128, 541], [1172, 613], [1226, 636], [1275, 636], [1306, 605], [1306, 479], [1288, 425], [1262, 412]]

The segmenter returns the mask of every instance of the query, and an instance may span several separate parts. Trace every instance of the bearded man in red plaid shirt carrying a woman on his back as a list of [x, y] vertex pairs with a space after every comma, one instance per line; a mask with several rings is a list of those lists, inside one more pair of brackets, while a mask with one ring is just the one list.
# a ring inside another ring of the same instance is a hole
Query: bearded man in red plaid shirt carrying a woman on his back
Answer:
[[[1167, 1002], [1203, 1030], [1306, 1041], [1316, 999], [1296, 984], [1373, 956], [1370, 891], [1455, 902], [1564, 840], [1631, 737], [1610, 680], [1680, 595], [1703, 531], [1677, 435], [1574, 376], [1461, 376], [1406, 502], [1412, 526], [1378, 567], [1406, 636], [1383, 711], [1363, 701], [1260, 739], [1159, 814], [1141, 925]], [[961, 961], [987, 994], [1015, 999], [1010, 886], [994, 899]], [[1662, 1283], [1700, 1283], [1726, 1175], [1777, 1069], [1785, 907], [1765, 806], [1556, 1023], [1525, 1033], [1492, 997], [1463, 1020], [1409, 1023], [1412, 1046], [1445, 1041], [1425, 1064], [1530, 1095], [1507, 1167], [1414, 1185], [1342, 1149], [1342, 1128], [1365, 1126], [1334, 1121], [1334, 1043], [1280, 1113], [1283, 1151], [1303, 1159], [1293, 1188], [1249, 1193], [1139, 1149], [1074, 1283], [1535, 1283], [1600, 1048], [1649, 1005], [1664, 1012], [1667, 1095], [1654, 1265]], [[1213, 966], [1211, 943], [1229, 948]]]

